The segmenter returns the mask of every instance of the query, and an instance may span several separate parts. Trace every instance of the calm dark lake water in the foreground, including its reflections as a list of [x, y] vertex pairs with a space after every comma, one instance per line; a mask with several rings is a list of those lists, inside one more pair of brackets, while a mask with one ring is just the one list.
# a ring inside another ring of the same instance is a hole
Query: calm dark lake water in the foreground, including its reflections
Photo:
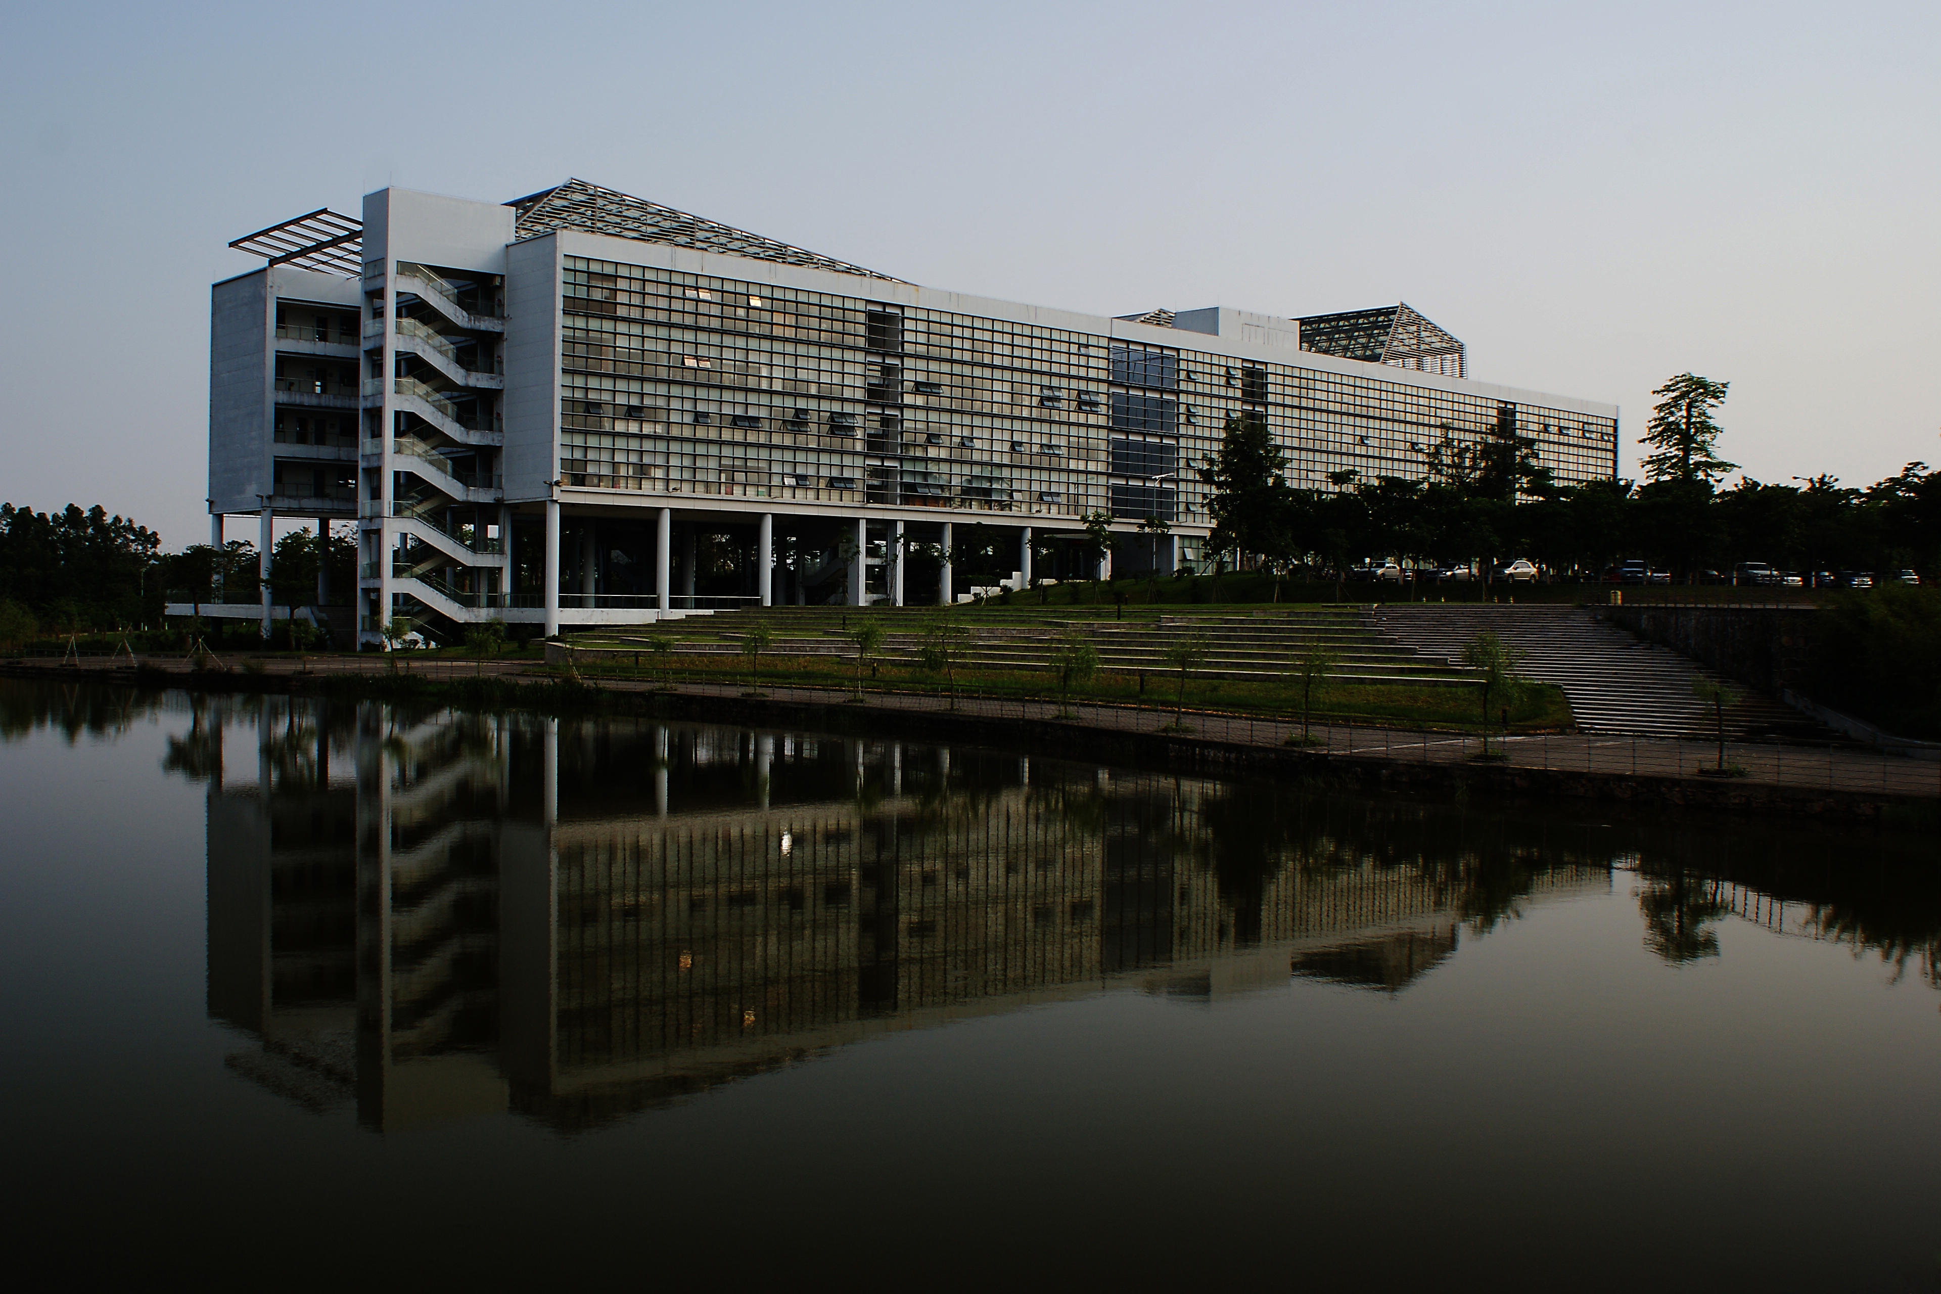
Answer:
[[49, 1282], [1941, 1288], [1935, 844], [0, 681]]

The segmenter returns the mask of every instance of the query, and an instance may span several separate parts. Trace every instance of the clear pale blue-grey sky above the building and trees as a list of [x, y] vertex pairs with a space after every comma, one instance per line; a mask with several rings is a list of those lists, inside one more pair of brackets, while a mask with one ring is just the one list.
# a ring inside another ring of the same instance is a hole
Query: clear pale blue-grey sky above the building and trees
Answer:
[[[1941, 4], [39, 4], [0, 43], [0, 499], [202, 541], [229, 239], [580, 177], [1101, 314], [1407, 301], [1477, 378], [1731, 382], [1941, 462]], [[250, 530], [250, 534], [254, 534]]]

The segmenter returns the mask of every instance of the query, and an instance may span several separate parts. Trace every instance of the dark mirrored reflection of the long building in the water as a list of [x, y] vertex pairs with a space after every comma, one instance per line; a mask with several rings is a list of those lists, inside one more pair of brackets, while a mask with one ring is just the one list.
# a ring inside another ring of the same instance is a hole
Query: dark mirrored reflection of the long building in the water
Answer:
[[1498, 848], [1489, 898], [1489, 842], [1429, 857], [1429, 826], [988, 751], [287, 698], [252, 718], [252, 784], [215, 743], [210, 1011], [260, 1040], [235, 1069], [378, 1129], [586, 1127], [1106, 984], [1396, 991], [1465, 922], [1607, 887], [1596, 859]]

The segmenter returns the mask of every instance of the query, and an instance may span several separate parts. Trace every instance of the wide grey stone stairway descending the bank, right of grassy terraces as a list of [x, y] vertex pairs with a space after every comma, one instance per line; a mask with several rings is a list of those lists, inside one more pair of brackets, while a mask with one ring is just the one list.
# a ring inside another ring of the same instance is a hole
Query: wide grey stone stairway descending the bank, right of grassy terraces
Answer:
[[[1644, 642], [1586, 607], [1561, 605], [1390, 605], [1370, 613], [1396, 646], [1456, 663], [1485, 629], [1508, 642], [1518, 673], [1563, 689], [1578, 728], [1599, 733], [1710, 737], [1716, 720], [1693, 695], [1693, 679], [1718, 679], [1696, 662]], [[1805, 714], [1735, 687], [1745, 698], [1726, 710], [1726, 735], [1836, 741]]]

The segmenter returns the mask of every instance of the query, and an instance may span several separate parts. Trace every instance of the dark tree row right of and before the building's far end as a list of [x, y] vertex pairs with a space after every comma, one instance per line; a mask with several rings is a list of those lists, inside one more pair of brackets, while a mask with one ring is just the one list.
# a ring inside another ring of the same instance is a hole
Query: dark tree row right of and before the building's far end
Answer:
[[1209, 566], [1339, 576], [1370, 557], [1405, 565], [1528, 557], [1559, 578], [1588, 578], [1642, 559], [1675, 578], [1729, 572], [1737, 563], [1792, 570], [1920, 570], [1941, 576], [1941, 471], [1908, 464], [1865, 489], [1830, 475], [1720, 489], [1735, 471], [1716, 454], [1714, 409], [1726, 382], [1679, 374], [1660, 386], [1642, 438], [1644, 483], [1557, 485], [1535, 440], [1500, 433], [1460, 444], [1444, 431], [1429, 479], [1353, 469], [1330, 489], [1287, 483], [1287, 458], [1260, 417], [1227, 421], [1219, 450], [1198, 468], [1211, 487]]

